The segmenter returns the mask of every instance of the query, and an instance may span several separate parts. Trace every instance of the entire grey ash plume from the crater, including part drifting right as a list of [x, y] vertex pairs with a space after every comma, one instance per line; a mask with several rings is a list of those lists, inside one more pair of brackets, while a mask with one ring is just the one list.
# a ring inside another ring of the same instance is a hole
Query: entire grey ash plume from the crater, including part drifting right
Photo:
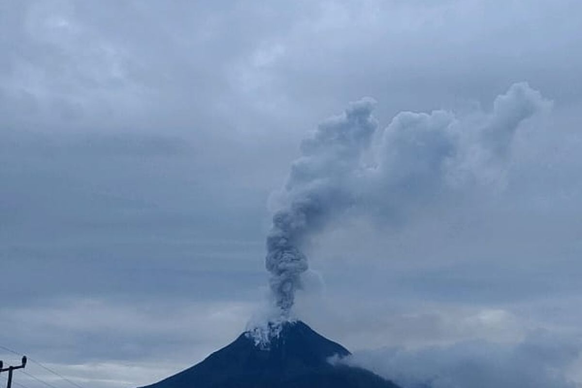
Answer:
[[489, 113], [401, 112], [379, 136], [374, 105], [361, 99], [321, 123], [301, 143], [301, 156], [277, 195], [266, 266], [283, 316], [308, 269], [303, 249], [330, 220], [347, 210], [406, 218], [470, 187], [503, 181], [519, 124], [549, 102], [517, 83], [495, 99]]

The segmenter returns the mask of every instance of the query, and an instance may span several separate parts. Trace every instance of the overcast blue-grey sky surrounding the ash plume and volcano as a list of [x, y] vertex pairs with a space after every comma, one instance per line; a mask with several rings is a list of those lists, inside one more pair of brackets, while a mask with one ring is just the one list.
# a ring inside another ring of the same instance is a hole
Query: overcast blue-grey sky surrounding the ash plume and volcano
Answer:
[[403, 384], [582, 383], [580, 36], [578, 0], [0, 0], [0, 345], [84, 388], [200, 361], [264, 303], [269, 197], [318, 123], [525, 81], [547, 104], [502, 179], [334, 223], [296, 313]]

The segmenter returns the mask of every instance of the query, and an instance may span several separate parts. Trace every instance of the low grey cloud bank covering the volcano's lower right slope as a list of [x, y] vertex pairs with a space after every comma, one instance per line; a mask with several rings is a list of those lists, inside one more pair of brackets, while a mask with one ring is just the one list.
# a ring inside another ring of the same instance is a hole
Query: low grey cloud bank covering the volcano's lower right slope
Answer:
[[580, 339], [536, 331], [518, 343], [465, 341], [415, 350], [356, 353], [344, 362], [370, 368], [404, 388], [574, 388], [568, 368], [582, 351]]

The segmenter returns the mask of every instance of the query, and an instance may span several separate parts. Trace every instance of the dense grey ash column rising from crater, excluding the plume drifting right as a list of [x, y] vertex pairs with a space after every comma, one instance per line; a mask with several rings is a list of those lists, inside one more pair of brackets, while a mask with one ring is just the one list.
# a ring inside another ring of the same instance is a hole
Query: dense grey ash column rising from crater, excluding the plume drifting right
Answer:
[[284, 205], [275, 212], [267, 237], [265, 265], [271, 272], [275, 304], [285, 316], [301, 286], [300, 275], [308, 268], [301, 250], [306, 238], [354, 201], [346, 188], [378, 127], [371, 116], [374, 105], [370, 98], [353, 102], [342, 115], [321, 123], [313, 137], [301, 142], [301, 156], [293, 162], [280, 193]]

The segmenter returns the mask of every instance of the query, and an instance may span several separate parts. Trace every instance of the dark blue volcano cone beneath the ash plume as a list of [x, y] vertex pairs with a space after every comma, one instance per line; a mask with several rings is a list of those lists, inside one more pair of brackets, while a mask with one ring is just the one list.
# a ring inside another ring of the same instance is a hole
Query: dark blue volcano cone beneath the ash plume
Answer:
[[301, 321], [260, 346], [244, 332], [204, 361], [142, 388], [400, 388], [365, 369], [332, 364], [350, 352]]

